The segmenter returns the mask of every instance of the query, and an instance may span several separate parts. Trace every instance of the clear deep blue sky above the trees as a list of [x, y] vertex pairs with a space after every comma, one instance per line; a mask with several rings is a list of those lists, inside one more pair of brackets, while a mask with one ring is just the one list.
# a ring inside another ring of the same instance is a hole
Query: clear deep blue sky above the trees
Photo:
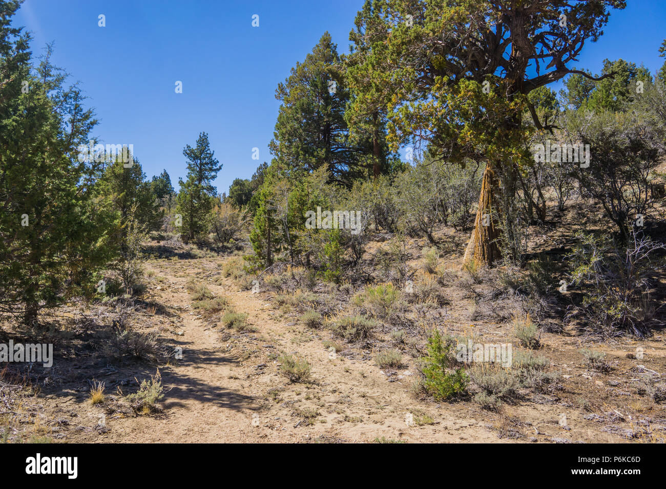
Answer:
[[[613, 11], [605, 34], [588, 43], [578, 67], [598, 73], [603, 59], [663, 64], [666, 0], [628, 0]], [[81, 81], [109, 144], [134, 144], [149, 178], [163, 168], [178, 190], [182, 148], [208, 132], [224, 164], [215, 182], [228, 190], [270, 162], [268, 142], [278, 113], [275, 88], [324, 31], [338, 51], [363, 0], [26, 0], [15, 23], [33, 33], [33, 53], [55, 41], [54, 61]], [[106, 27], [98, 27], [98, 15]], [[252, 27], [252, 15], [259, 27]], [[183, 92], [174, 92], [182, 81]], [[552, 88], [558, 89], [559, 86]], [[260, 160], [252, 160], [252, 148]]]

